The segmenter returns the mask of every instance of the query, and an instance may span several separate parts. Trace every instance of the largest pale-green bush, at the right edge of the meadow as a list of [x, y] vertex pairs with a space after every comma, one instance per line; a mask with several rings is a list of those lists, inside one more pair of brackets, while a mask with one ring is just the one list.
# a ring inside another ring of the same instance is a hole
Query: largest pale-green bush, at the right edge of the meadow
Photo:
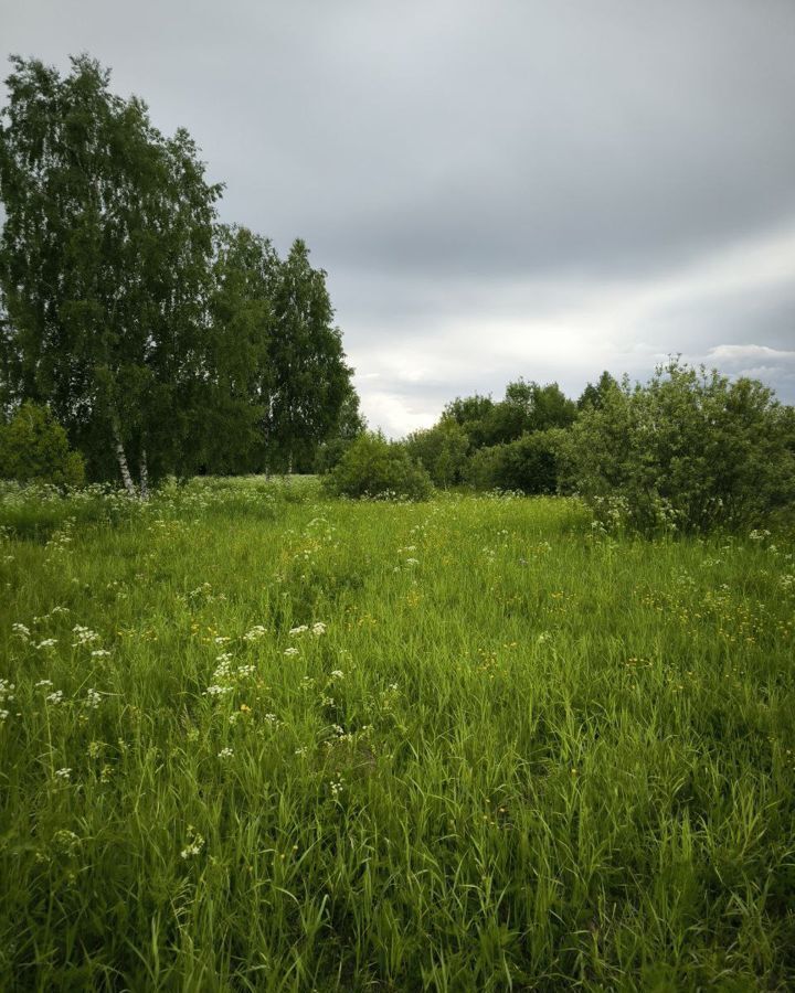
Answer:
[[597, 512], [644, 533], [764, 521], [795, 499], [792, 410], [753, 380], [678, 362], [628, 381], [571, 429], [569, 471]]

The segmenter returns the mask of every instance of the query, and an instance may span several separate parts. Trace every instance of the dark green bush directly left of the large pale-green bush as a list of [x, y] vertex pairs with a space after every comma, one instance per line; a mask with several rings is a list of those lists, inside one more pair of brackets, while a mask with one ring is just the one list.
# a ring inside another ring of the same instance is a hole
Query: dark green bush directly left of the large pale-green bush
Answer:
[[506, 445], [481, 448], [469, 460], [467, 482], [478, 490], [555, 493], [564, 438], [561, 428], [550, 428], [522, 435]]

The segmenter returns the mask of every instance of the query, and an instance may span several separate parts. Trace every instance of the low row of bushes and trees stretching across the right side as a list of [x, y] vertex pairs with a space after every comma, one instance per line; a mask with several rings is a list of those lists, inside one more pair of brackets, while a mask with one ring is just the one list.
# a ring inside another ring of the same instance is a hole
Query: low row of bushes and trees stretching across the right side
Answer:
[[757, 381], [679, 359], [646, 383], [604, 372], [576, 401], [556, 383], [520, 378], [501, 401], [452, 401], [402, 441], [363, 436], [327, 480], [351, 496], [422, 498], [433, 485], [576, 493], [604, 526], [645, 534], [786, 521], [795, 409]]

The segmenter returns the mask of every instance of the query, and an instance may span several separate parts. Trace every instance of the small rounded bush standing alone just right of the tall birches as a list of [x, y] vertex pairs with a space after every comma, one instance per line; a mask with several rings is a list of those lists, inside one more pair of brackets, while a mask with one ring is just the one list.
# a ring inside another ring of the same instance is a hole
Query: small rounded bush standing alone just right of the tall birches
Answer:
[[338, 496], [409, 498], [423, 500], [433, 484], [405, 446], [367, 433], [357, 438], [324, 479], [327, 492]]

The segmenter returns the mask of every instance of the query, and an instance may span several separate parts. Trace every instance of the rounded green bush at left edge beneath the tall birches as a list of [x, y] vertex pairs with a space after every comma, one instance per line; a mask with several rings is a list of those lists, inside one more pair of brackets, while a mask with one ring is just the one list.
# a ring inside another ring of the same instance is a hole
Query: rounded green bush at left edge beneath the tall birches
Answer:
[[0, 478], [80, 487], [85, 463], [51, 412], [28, 402], [0, 425]]

